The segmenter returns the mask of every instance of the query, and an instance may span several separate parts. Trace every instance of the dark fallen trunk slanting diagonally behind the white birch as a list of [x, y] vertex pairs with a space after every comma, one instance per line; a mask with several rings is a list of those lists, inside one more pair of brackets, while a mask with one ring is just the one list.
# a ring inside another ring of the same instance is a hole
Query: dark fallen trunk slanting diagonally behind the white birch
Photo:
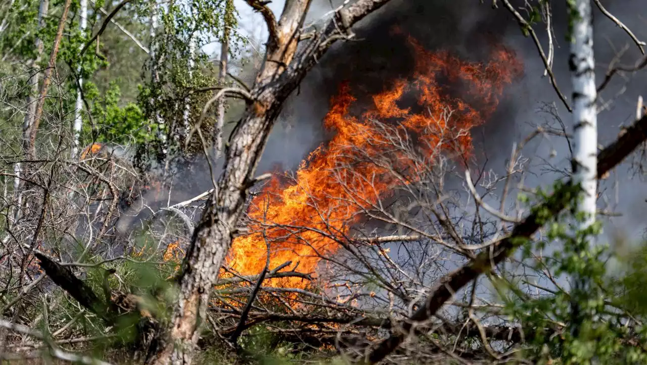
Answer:
[[[647, 116], [636, 121], [628, 128], [627, 133], [598, 154], [597, 177], [600, 178], [616, 167], [645, 140], [647, 140]], [[560, 189], [554, 191], [551, 199], [535, 207], [533, 213], [527, 216], [523, 222], [516, 224], [509, 236], [494, 244], [492, 249], [480, 253], [465, 266], [441, 278], [440, 284], [430, 293], [424, 304], [405, 320], [396, 332], [391, 333], [391, 336], [372, 349], [364, 362], [375, 364], [384, 359], [400, 346], [415, 324], [430, 320], [454, 293], [472, 280], [476, 280], [479, 275], [494, 269], [493, 266], [508, 258], [519, 247], [520, 242], [530, 240], [532, 235], [542, 227], [547, 217], [555, 216], [572, 202], [576, 196], [575, 189], [577, 188], [573, 187], [569, 180]]]

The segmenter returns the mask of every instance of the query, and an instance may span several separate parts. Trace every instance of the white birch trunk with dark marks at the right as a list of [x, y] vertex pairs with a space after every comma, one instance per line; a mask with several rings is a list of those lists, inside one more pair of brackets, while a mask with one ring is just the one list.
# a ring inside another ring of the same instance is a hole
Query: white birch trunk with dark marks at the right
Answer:
[[[583, 195], [578, 211], [586, 214], [586, 219], [579, 229], [587, 229], [595, 223], [596, 187], [597, 187], [597, 109], [595, 101], [597, 90], [595, 85], [595, 61], [593, 57], [593, 16], [590, 0], [576, 0], [570, 8], [573, 34], [571, 39], [571, 82], [573, 83], [573, 182], [582, 185]], [[589, 236], [589, 246], [593, 245], [593, 237]], [[575, 279], [574, 291], [587, 293], [586, 278]], [[577, 295], [571, 310], [573, 320], [571, 333], [576, 335], [581, 322], [581, 313], [576, 304]]]

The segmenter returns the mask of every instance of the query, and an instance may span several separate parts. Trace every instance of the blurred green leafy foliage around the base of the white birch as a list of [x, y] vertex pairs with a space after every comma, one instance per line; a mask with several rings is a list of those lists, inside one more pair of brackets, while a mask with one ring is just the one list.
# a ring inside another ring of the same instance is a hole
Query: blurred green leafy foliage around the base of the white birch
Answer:
[[[546, 205], [555, 199], [545, 193], [538, 196]], [[647, 301], [641, 295], [647, 284], [647, 256], [632, 255], [627, 262], [609, 245], [591, 245], [600, 234], [600, 224], [579, 229], [586, 216], [575, 212], [575, 206], [558, 216], [535, 211], [545, 218], [545, 240], [526, 243], [522, 258], [526, 262], [532, 258], [532, 269], [548, 270], [553, 280], [569, 278], [582, 285], [567, 290], [554, 282], [544, 290], [547, 294], [533, 296], [510, 273], [492, 279], [505, 313], [523, 326], [529, 340], [521, 357], [538, 364], [646, 363], [647, 352], [639, 344], [647, 340], [647, 331], [636, 318], [647, 314]], [[532, 252], [542, 255], [538, 258]], [[626, 262], [620, 267], [628, 269], [611, 275], [611, 258]]]

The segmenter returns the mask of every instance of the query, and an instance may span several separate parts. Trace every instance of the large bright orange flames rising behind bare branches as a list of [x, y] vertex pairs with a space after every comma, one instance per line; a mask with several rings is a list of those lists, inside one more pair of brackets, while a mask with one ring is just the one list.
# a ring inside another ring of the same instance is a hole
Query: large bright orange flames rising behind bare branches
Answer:
[[[241, 275], [263, 271], [268, 242], [270, 270], [291, 261], [284, 271], [298, 263], [296, 271], [313, 273], [321, 256], [349, 242], [349, 230], [365, 209], [417, 178], [419, 162], [391, 148], [394, 139], [415, 143], [427, 162], [438, 153], [470, 155], [468, 131], [494, 112], [504, 87], [520, 75], [520, 61], [500, 46], [488, 63], [471, 63], [429, 52], [414, 39], [409, 43], [415, 55], [411, 79], [373, 96], [373, 106], [360, 116], [351, 115], [356, 99], [343, 85], [324, 121], [334, 137], [313, 151], [293, 178], [275, 176], [254, 197], [248, 210], [253, 233], [234, 240], [227, 260], [231, 269]], [[462, 98], [453, 97], [448, 85], [459, 85]], [[400, 107], [412, 96], [415, 105]], [[448, 112], [451, 118], [443, 118]], [[266, 285], [307, 283], [274, 278]]]

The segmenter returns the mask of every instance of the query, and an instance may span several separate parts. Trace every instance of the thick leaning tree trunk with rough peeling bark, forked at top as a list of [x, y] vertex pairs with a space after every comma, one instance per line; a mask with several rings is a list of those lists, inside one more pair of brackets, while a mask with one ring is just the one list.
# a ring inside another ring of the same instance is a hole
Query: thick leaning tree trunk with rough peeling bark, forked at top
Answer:
[[[230, 248], [234, 227], [245, 209], [248, 189], [254, 184], [256, 165], [263, 153], [274, 121], [283, 101], [299, 85], [317, 59], [336, 41], [351, 37], [349, 27], [367, 14], [386, 5], [389, 0], [360, 0], [336, 14], [311, 41], [300, 47], [301, 29], [312, 0], [287, 0], [280, 20], [276, 22], [265, 3], [248, 0], [261, 14], [270, 30], [267, 52], [261, 71], [250, 94], [245, 114], [232, 132], [226, 146], [225, 169], [217, 189], [211, 194], [203, 216], [193, 234], [182, 271], [177, 278], [178, 303], [166, 333], [155, 339], [148, 363], [190, 364], [199, 339], [201, 318], [220, 267]], [[342, 26], [339, 26], [339, 21]]]

